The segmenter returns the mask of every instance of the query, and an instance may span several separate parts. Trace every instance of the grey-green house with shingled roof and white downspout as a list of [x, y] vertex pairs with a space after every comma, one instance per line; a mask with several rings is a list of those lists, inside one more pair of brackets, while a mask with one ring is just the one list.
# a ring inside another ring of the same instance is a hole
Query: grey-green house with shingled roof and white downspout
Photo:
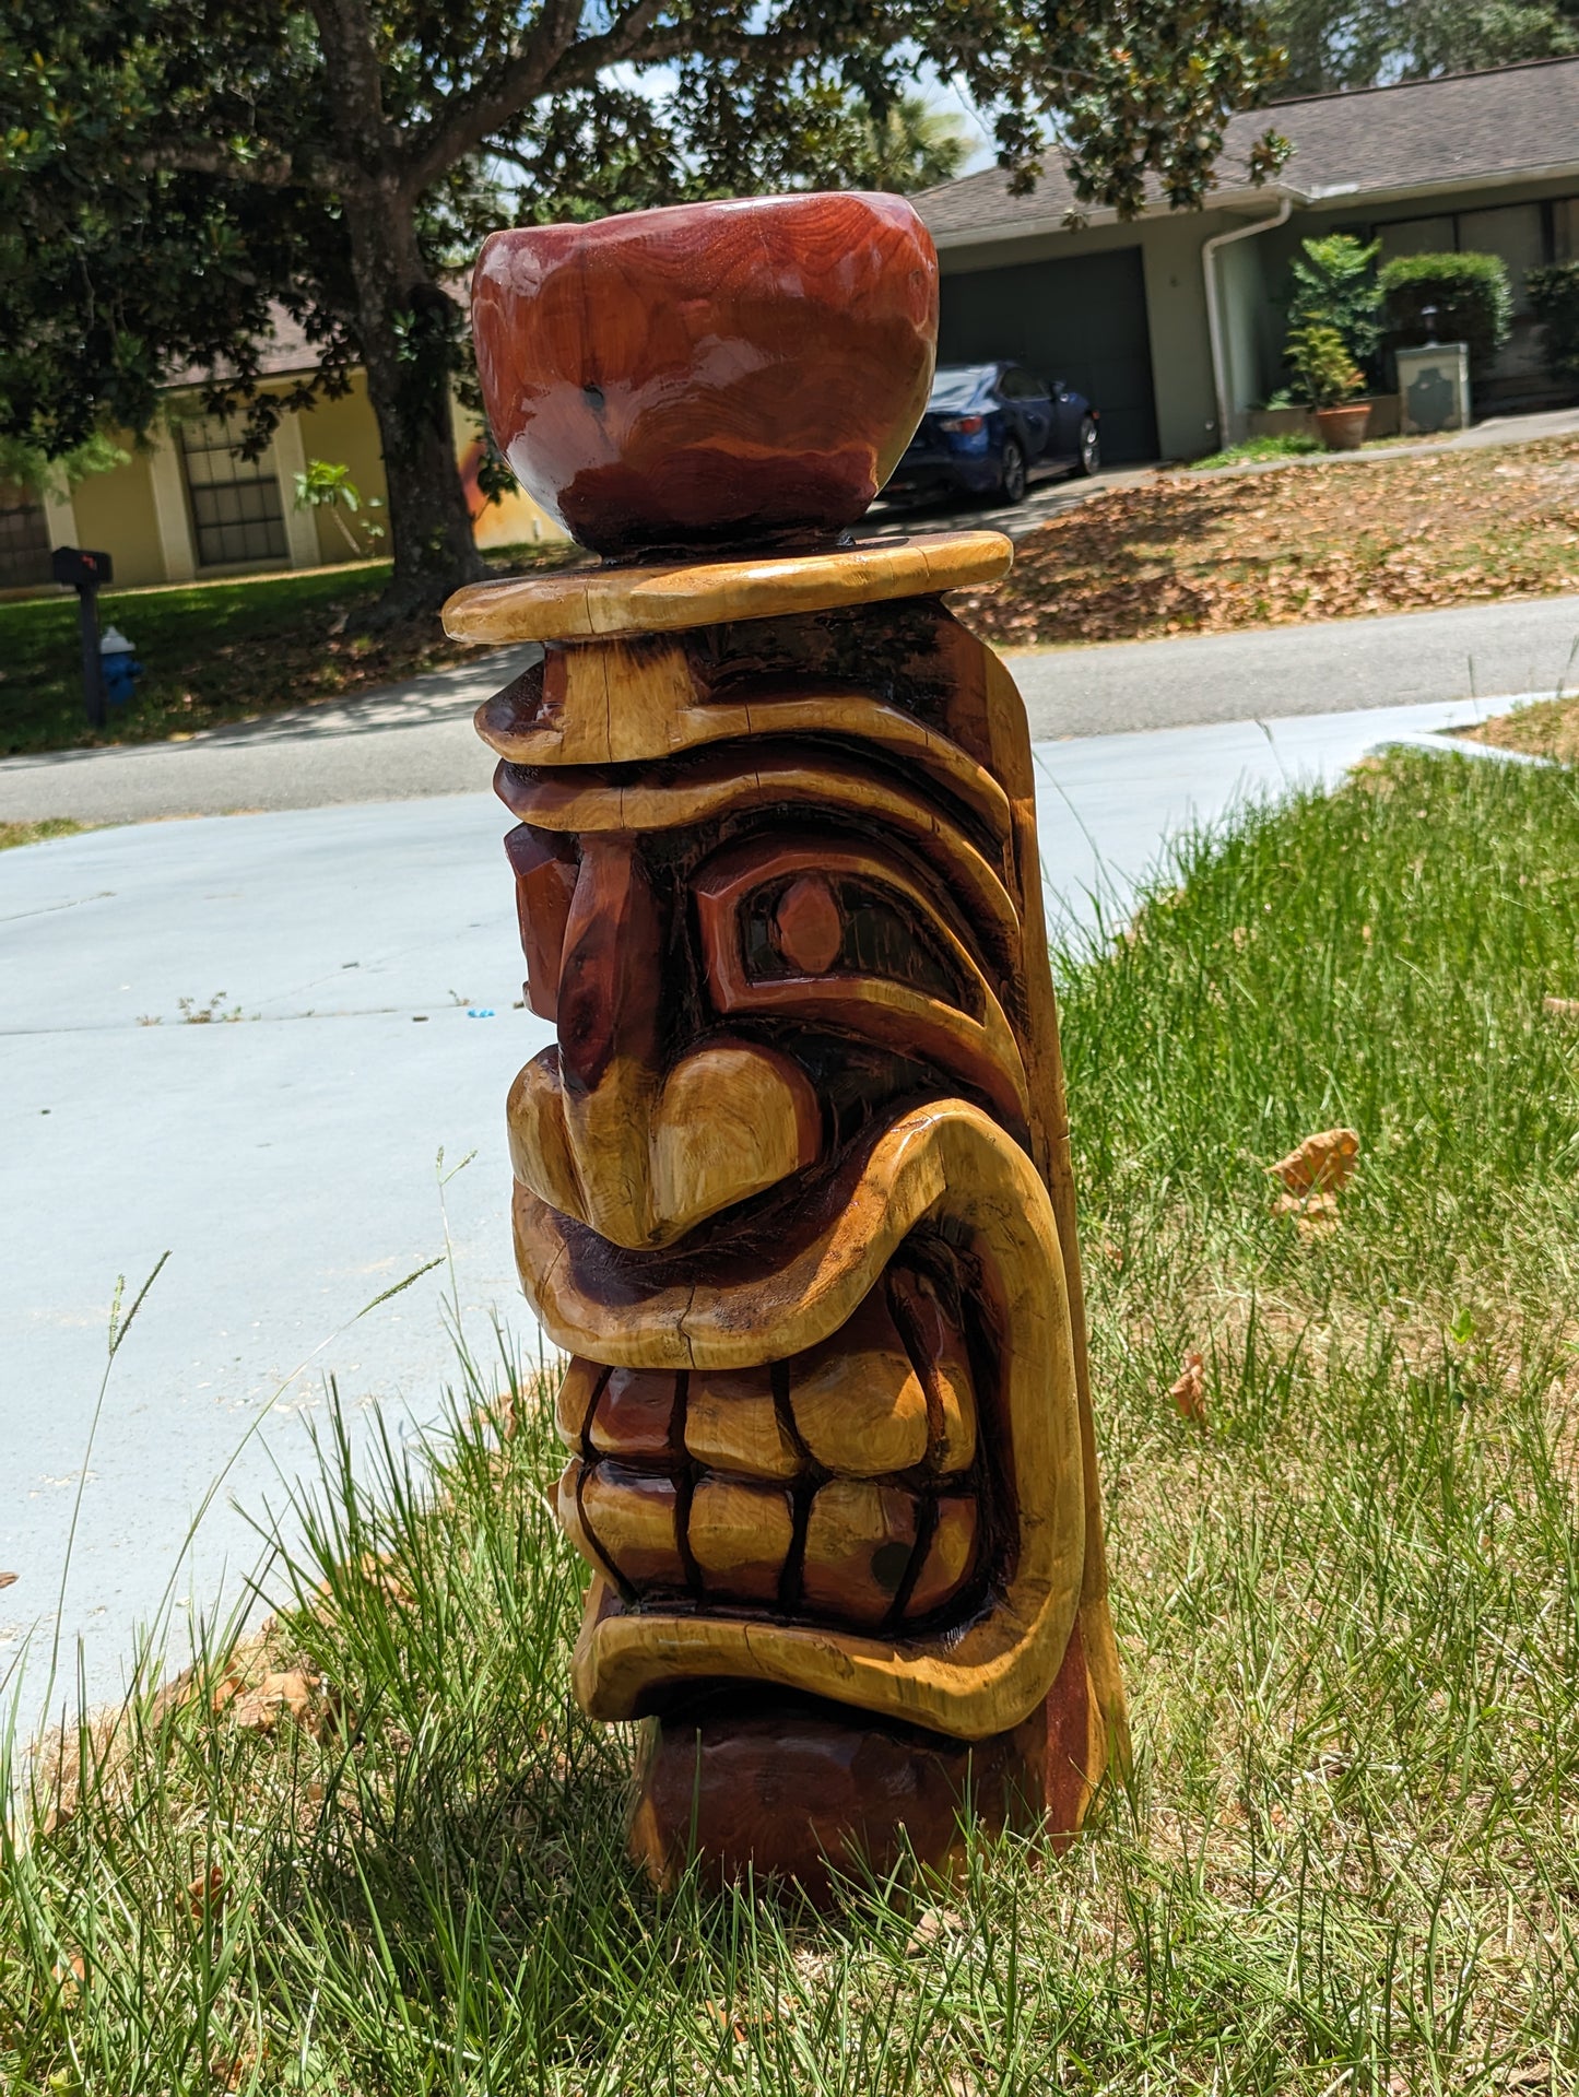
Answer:
[[[1243, 178], [1267, 128], [1294, 147]], [[1099, 403], [1103, 451], [1195, 457], [1246, 434], [1283, 384], [1279, 291], [1308, 235], [1380, 237], [1382, 256], [1480, 250], [1508, 262], [1514, 333], [1476, 413], [1554, 396], [1524, 273], [1579, 260], [1579, 59], [1273, 103], [1229, 122], [1199, 212], [1158, 197], [1122, 222], [1048, 166], [1025, 197], [992, 168], [914, 199], [944, 268], [939, 354], [1015, 356]]]

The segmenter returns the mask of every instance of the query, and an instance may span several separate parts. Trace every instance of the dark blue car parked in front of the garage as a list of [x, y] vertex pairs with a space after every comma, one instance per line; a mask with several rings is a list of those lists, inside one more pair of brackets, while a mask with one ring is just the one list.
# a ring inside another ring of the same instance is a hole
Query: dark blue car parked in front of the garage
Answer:
[[1023, 501], [1032, 474], [1095, 474], [1099, 409], [1025, 365], [942, 365], [927, 413], [883, 493], [893, 499], [977, 495]]

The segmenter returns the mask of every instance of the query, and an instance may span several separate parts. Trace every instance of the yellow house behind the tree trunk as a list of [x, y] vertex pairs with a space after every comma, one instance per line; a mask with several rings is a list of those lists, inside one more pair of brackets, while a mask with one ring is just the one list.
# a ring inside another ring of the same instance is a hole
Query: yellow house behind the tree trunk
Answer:
[[[283, 392], [315, 367], [317, 350], [279, 310], [262, 354], [262, 390]], [[384, 503], [384, 453], [361, 371], [342, 398], [287, 411], [258, 459], [235, 449], [241, 417], [203, 415], [199, 380], [201, 373], [189, 371], [168, 388], [166, 413], [145, 442], [117, 436], [124, 466], [90, 474], [75, 489], [57, 484], [36, 493], [0, 484], [0, 593], [46, 585], [57, 545], [109, 554], [117, 587], [317, 568], [380, 552], [369, 535], [380, 510], [369, 503]], [[453, 424], [478, 545], [564, 539], [520, 489], [501, 503], [482, 499], [474, 419], [457, 405]], [[350, 468], [363, 501], [356, 516], [344, 507], [298, 507], [296, 476], [308, 459]]]

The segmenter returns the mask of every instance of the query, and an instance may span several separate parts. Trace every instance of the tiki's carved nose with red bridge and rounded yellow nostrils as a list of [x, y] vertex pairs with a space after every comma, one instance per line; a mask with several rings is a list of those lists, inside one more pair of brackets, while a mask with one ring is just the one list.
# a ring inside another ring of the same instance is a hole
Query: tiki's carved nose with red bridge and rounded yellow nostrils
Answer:
[[[583, 839], [558, 988], [558, 1057], [510, 1097], [516, 1176], [617, 1246], [671, 1246], [696, 1223], [816, 1160], [822, 1118], [776, 1048], [667, 1055], [667, 914], [633, 839]], [[700, 1015], [692, 1015], [696, 1021]]]

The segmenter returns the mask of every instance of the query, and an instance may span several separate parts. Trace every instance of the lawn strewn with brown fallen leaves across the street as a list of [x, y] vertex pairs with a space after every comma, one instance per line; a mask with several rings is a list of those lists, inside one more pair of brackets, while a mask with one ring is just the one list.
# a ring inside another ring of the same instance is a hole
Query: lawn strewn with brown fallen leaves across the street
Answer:
[[1579, 438], [1160, 474], [1028, 533], [960, 598], [996, 646], [1149, 640], [1579, 589]]

